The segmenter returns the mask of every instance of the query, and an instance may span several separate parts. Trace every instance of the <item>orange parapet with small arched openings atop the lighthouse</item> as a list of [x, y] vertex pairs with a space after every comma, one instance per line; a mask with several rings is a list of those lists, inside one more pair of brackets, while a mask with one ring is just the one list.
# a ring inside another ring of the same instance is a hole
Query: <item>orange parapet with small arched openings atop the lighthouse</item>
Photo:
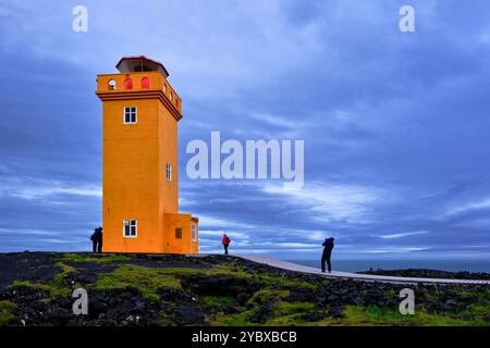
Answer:
[[167, 99], [182, 112], [182, 99], [159, 72], [103, 74], [97, 76], [97, 92], [161, 90]]

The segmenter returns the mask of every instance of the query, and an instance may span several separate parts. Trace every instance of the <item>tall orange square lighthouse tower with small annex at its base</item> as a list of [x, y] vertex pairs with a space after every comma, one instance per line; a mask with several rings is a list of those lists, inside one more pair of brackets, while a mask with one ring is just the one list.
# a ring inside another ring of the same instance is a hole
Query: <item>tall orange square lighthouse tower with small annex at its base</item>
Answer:
[[98, 75], [102, 101], [105, 252], [198, 252], [198, 219], [179, 213], [177, 123], [182, 100], [164, 66], [122, 58]]

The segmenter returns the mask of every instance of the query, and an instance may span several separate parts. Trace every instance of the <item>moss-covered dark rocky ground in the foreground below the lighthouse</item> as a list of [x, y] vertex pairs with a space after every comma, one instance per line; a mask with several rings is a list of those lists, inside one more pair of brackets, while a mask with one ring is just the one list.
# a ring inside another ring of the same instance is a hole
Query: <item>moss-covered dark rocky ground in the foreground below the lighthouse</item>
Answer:
[[222, 256], [0, 253], [0, 325], [490, 325], [489, 286], [409, 286], [414, 315], [404, 287]]

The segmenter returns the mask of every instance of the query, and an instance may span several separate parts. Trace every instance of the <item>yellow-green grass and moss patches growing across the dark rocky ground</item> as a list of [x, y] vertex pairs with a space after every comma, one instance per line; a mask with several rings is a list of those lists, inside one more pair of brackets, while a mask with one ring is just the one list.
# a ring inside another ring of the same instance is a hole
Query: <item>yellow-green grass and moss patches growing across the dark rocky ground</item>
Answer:
[[[308, 322], [304, 319], [306, 313], [319, 310], [314, 302], [290, 302], [287, 300], [295, 287], [314, 291], [317, 288], [315, 283], [303, 279], [295, 279], [272, 274], [245, 272], [243, 266], [221, 264], [211, 268], [148, 268], [127, 264], [132, 259], [120, 254], [94, 256], [89, 253], [65, 253], [60, 257], [57, 266], [61, 272], [52, 279], [44, 283], [28, 281], [15, 281], [12, 287], [30, 286], [49, 293], [47, 298], [41, 299], [42, 303], [49, 303], [59, 297], [70, 297], [72, 289], [78, 287], [71, 284], [66, 276], [76, 272], [76, 263], [68, 265], [64, 261], [74, 262], [120, 262], [110, 273], [100, 273], [97, 282], [87, 286], [97, 289], [113, 289], [136, 287], [143, 296], [150, 301], [160, 301], [158, 288], [182, 289], [181, 278], [188, 275], [204, 276], [233, 276], [250, 279], [260, 285], [260, 289], [253, 294], [252, 298], [240, 306], [232, 296], [201, 296], [201, 302], [212, 311], [206, 319], [208, 325], [225, 326], [247, 326], [247, 325], [431, 325], [431, 326], [462, 326], [462, 325], [490, 325], [486, 321], [490, 313], [490, 291], [485, 288], [465, 290], [456, 289], [457, 296], [475, 296], [475, 301], [463, 309], [456, 311], [442, 311], [429, 313], [417, 309], [415, 315], [402, 315], [397, 308], [379, 307], [357, 307], [347, 306], [344, 308], [342, 319], [326, 318], [317, 322]], [[328, 281], [323, 281], [328, 284]], [[436, 294], [444, 293], [446, 289], [434, 285]], [[362, 294], [359, 294], [362, 296]], [[428, 291], [422, 294], [428, 300], [437, 300], [437, 296], [431, 296]], [[457, 296], [455, 299], [457, 300]], [[397, 297], [395, 290], [388, 290], [388, 298]], [[271, 303], [272, 313], [266, 323], [252, 323], [250, 318], [261, 306]], [[171, 306], [171, 303], [169, 304]], [[229, 311], [228, 309], [234, 309]], [[0, 325], [5, 325], [13, 319], [15, 303], [0, 301]], [[160, 312], [160, 325], [174, 325], [174, 320], [163, 310]]]

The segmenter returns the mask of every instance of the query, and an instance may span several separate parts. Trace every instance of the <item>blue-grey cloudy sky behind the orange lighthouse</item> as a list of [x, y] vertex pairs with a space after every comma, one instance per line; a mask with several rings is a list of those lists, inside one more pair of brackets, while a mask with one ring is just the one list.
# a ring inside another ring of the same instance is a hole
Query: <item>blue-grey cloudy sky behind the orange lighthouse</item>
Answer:
[[[416, 11], [401, 33], [399, 10]], [[88, 32], [72, 10], [88, 10]], [[490, 258], [490, 3], [0, 0], [0, 250], [88, 250], [96, 75], [162, 61], [183, 99], [181, 210], [201, 251]], [[186, 176], [192, 139], [304, 139], [305, 185]]]

